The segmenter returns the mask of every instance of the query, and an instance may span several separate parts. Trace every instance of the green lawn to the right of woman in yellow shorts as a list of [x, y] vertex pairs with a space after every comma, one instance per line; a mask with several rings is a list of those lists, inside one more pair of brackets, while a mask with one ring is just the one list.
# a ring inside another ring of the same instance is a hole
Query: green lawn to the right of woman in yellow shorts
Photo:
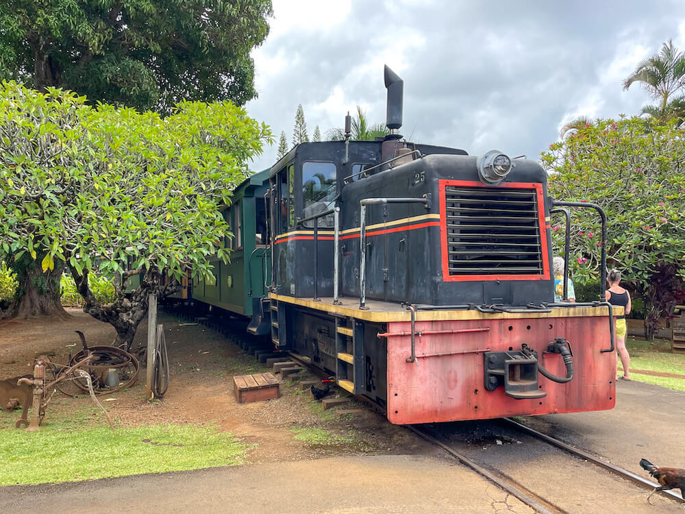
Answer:
[[[636, 370], [655, 371], [685, 376], [685, 354], [673, 354], [671, 343], [666, 339], [645, 341], [629, 336], [625, 347], [630, 354], [630, 378], [639, 382], [656, 384], [676, 391], [685, 391], [685, 379], [640, 374]], [[621, 362], [619, 360], [619, 369]]]

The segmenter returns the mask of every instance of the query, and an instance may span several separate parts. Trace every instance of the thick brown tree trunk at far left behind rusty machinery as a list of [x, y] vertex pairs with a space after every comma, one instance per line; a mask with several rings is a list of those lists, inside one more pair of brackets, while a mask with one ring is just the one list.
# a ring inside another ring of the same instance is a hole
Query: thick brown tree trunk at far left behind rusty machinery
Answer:
[[18, 298], [10, 306], [8, 317], [27, 319], [29, 317], [51, 317], [69, 319], [71, 315], [62, 307], [60, 279], [64, 262], [55, 261], [55, 269], [43, 273], [40, 267], [42, 256], [32, 259], [23, 256], [14, 263], [18, 287]]

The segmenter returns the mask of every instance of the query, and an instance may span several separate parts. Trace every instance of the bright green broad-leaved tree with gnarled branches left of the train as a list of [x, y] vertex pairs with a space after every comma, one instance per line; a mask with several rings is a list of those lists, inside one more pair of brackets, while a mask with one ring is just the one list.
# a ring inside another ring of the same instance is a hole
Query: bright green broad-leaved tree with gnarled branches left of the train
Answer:
[[[128, 347], [164, 276], [209, 277], [224, 261], [221, 206], [271, 132], [229, 102], [182, 102], [169, 117], [86, 105], [85, 97], [0, 88], [0, 252], [66, 262], [84, 311]], [[39, 254], [36, 248], [46, 249]], [[91, 276], [114, 278], [101, 304]], [[125, 283], [140, 274], [129, 296]]]

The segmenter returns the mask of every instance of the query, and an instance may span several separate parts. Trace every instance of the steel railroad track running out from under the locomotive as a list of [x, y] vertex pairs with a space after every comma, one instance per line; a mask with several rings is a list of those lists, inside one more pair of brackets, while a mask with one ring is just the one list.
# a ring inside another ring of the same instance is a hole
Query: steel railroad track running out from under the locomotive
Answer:
[[[233, 325], [233, 323], [229, 323], [219, 317], [213, 317], [212, 315], [205, 315], [204, 317], [195, 317], [192, 314], [187, 315], [186, 313], [179, 312], [178, 310], [171, 310], [171, 312], [167, 312], [173, 315], [180, 315], [185, 319], [192, 319], [194, 321], [198, 321], [199, 323], [208, 326], [208, 328], [212, 328], [213, 330], [221, 332], [224, 336], [227, 336], [227, 339], [229, 339], [229, 341], [241, 347], [245, 347], [249, 341], [253, 340], [251, 339], [251, 336], [249, 336], [249, 334], [243, 333], [240, 330], [236, 330], [236, 327]], [[299, 365], [308, 369], [310, 372], [312, 372], [312, 374], [325, 378], [323, 377], [325, 373], [323, 373], [321, 369], [310, 365], [310, 363], [308, 363], [308, 360], [301, 358], [301, 356], [298, 356], [297, 354], [289, 355], [290, 358], [292, 358], [292, 360], [295, 360]], [[363, 400], [364, 403], [368, 404], [371, 408], [375, 408], [376, 410], [382, 410], [381, 407], [377, 406], [376, 404], [373, 404], [373, 402], [366, 399], [365, 397], [361, 397], [360, 399]], [[596, 467], [599, 467], [610, 472], [612, 475], [616, 477], [622, 478], [623, 480], [627, 480], [628, 482], [632, 482], [632, 484], [637, 485], [638, 487], [641, 487], [646, 491], [651, 491], [655, 487], [658, 487], [658, 484], [656, 484], [656, 482], [652, 482], [651, 480], [647, 480], [646, 478], [638, 476], [630, 471], [627, 471], [626, 469], [622, 469], [621, 467], [618, 467], [612, 463], [603, 461], [601, 458], [598, 458], [597, 456], [594, 456], [593, 454], [590, 454], [585, 450], [575, 448], [574, 446], [564, 443], [559, 439], [555, 439], [553, 437], [550, 437], [549, 435], [543, 434], [542, 432], [538, 432], [537, 430], [534, 430], [517, 421], [514, 421], [514, 419], [505, 418], [490, 421], [477, 421], [472, 423], [497, 423], [500, 426], [507, 427], [509, 430], [518, 432], [519, 434], [523, 434], [527, 437], [531, 437], [536, 441], [546, 443], [551, 447], [558, 448], [559, 450], [562, 450], [562, 452], [564, 452], [566, 455], [571, 455], [577, 459], [581, 459], [582, 461], [591, 463]], [[437, 435], [435, 433], [436, 430], [431, 430], [431, 428], [434, 429], [436, 426], [440, 425], [407, 426], [406, 428], [414, 432], [416, 435], [419, 435], [419, 437], [422, 437], [423, 439], [426, 439], [427, 441], [430, 441], [431, 443], [439, 446], [440, 448], [445, 450], [445, 452], [456, 458], [460, 463], [462, 463], [462, 465], [465, 465], [466, 467], [473, 469], [475, 472], [477, 472], [490, 482], [493, 482], [495, 485], [497, 485], [497, 487], [500, 487], [501, 489], [508, 492], [515, 498], [518, 498], [527, 506], [530, 506], [530, 508], [534, 511], [539, 513], [550, 514], [567, 514], [573, 512], [573, 510], [564, 509], [562, 506], [559, 506], [553, 500], [545, 498], [545, 495], [536, 493], [534, 491], [534, 487], [528, 487], [521, 483], [520, 480], [512, 479], [510, 476], [508, 476], [508, 474], [506, 474], [506, 472], [501, 472], [500, 470], [498, 470], [496, 466], [493, 466], [488, 463], [477, 462], [477, 458], [469, 456], [467, 452], [458, 450], [454, 443], [445, 440], [445, 437], [440, 437], [440, 435]], [[662, 495], [664, 498], [668, 498], [669, 500], [675, 500], [676, 502], [685, 504], [685, 500], [681, 498], [679, 494], [674, 493], [673, 491], [657, 491], [657, 493]]]

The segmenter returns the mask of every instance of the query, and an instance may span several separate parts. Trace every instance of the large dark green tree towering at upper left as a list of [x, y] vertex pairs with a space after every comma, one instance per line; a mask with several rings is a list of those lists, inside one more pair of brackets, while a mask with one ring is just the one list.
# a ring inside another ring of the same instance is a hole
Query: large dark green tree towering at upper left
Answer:
[[0, 79], [165, 113], [182, 99], [242, 105], [271, 15], [271, 0], [9, 0]]

